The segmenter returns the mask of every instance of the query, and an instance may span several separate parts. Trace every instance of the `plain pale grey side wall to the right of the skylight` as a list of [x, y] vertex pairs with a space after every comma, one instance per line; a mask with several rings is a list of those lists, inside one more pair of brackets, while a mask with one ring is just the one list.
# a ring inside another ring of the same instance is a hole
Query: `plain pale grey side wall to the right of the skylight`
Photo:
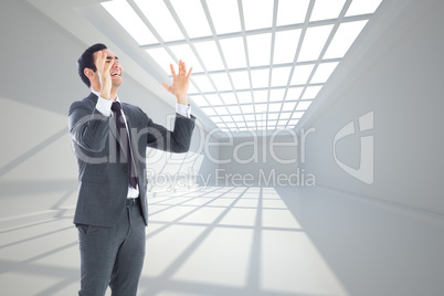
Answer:
[[[383, 14], [378, 21], [390, 25], [384, 31], [378, 23], [369, 28], [373, 31], [366, 38], [372, 45], [353, 47], [340, 75], [331, 77], [319, 98], [329, 107], [319, 107], [304, 125], [317, 131], [307, 140], [302, 167], [320, 186], [443, 214], [444, 2], [387, 2], [387, 11], [400, 15]], [[351, 120], [359, 131], [357, 120], [369, 112], [374, 128], [342, 138], [336, 148], [340, 161], [358, 169], [360, 136], [373, 136], [372, 184], [339, 168], [332, 151], [335, 135]]]

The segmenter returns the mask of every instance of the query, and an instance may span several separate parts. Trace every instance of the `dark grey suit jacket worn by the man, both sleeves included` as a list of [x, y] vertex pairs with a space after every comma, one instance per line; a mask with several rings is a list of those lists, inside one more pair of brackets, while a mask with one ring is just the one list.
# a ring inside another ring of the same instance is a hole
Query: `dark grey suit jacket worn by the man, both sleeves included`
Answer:
[[[78, 163], [78, 199], [75, 224], [112, 228], [125, 211], [128, 192], [128, 163], [120, 149], [116, 123], [96, 108], [97, 96], [89, 94], [74, 102], [68, 113], [68, 128]], [[131, 151], [138, 177], [145, 223], [147, 210], [147, 147], [171, 152], [187, 152], [194, 117], [176, 115], [175, 130], [155, 124], [139, 107], [121, 104], [131, 138]]]

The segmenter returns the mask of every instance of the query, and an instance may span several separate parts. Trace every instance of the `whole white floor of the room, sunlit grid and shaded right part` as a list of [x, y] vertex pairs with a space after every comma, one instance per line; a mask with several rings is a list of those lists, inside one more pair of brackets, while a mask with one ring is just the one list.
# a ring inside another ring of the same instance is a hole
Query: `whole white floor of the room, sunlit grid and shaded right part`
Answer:
[[[8, 202], [2, 295], [76, 295], [75, 192], [51, 210]], [[139, 295], [444, 294], [441, 216], [323, 188], [157, 191], [149, 204]]]

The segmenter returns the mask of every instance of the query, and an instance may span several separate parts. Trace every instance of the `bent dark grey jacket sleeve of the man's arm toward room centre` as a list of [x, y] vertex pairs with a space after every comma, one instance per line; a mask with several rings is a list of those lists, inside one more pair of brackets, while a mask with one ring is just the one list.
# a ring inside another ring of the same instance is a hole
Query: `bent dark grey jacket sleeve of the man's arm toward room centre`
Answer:
[[148, 118], [148, 147], [176, 154], [187, 152], [190, 149], [194, 120], [194, 116], [188, 118], [176, 114], [175, 129], [170, 131]]

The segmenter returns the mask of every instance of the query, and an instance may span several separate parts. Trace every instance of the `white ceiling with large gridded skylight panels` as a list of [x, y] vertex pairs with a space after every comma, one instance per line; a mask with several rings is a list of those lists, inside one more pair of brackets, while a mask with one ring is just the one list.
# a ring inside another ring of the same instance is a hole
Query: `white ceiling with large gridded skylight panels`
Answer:
[[231, 133], [300, 124], [381, 1], [29, 0], [169, 104], [159, 82], [184, 60], [193, 110]]

